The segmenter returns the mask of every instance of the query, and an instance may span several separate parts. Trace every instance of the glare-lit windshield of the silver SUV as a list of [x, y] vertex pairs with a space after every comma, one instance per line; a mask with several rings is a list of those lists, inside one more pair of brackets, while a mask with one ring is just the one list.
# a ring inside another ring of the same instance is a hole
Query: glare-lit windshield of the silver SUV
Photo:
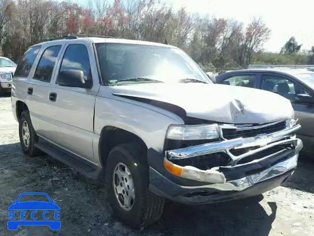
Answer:
[[108, 85], [208, 83], [204, 71], [182, 50], [120, 43], [96, 44], [102, 78]]

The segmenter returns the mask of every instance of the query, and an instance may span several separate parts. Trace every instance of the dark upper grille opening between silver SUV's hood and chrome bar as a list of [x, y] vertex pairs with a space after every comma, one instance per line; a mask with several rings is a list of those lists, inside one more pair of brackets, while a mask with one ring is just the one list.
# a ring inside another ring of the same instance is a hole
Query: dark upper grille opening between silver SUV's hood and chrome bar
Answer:
[[252, 129], [227, 129], [223, 128], [222, 133], [225, 139], [236, 139], [236, 138], [248, 138], [254, 137], [260, 134], [271, 134], [286, 128], [286, 121], [268, 125], [266, 127], [254, 128]]

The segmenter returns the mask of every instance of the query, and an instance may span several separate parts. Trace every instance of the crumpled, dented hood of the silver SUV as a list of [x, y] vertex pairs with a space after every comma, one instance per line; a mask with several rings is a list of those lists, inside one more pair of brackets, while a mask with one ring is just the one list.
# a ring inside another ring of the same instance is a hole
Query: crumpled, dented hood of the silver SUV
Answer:
[[110, 87], [112, 94], [146, 98], [183, 108], [187, 117], [262, 124], [294, 117], [288, 99], [260, 89], [201, 83], [147, 83]]

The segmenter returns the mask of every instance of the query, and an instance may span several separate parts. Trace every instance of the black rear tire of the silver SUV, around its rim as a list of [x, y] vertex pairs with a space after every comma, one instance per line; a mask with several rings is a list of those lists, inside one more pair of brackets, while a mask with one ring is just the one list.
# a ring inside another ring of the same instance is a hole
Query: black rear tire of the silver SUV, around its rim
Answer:
[[[24, 141], [24, 133], [23, 125], [27, 124], [28, 127], [28, 136], [29, 139], [27, 142]], [[31, 123], [29, 112], [23, 111], [21, 113], [20, 119], [19, 119], [19, 135], [20, 135], [20, 143], [22, 146], [22, 149], [24, 153], [26, 153], [28, 156], [36, 156], [41, 154], [42, 152], [35, 147], [35, 143], [38, 141], [38, 136], [36, 135], [35, 130], [33, 129], [33, 125]]]

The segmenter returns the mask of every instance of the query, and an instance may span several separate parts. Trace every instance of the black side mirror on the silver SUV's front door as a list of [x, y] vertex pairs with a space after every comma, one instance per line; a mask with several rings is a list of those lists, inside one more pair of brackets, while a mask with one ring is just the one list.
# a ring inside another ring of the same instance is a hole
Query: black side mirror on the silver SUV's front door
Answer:
[[77, 87], [90, 89], [92, 87], [91, 80], [84, 79], [82, 70], [68, 69], [59, 72], [57, 83], [60, 86]]

